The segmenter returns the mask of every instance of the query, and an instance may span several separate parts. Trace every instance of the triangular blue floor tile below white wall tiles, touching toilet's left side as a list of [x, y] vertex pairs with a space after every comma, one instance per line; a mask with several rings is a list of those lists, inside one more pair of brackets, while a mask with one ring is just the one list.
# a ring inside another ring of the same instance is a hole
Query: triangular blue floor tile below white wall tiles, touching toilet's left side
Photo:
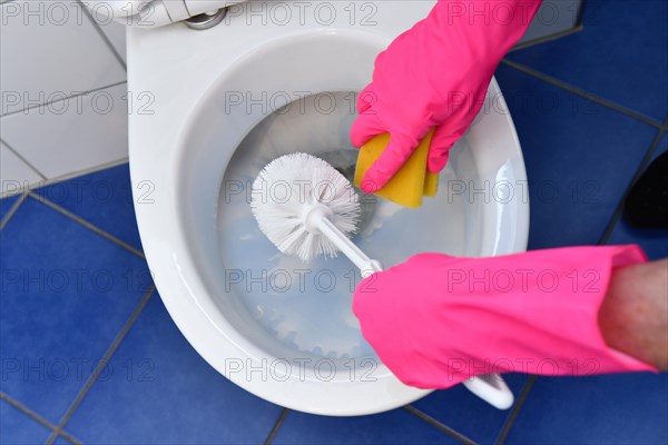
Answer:
[[[149, 202], [149, 186], [139, 191], [144, 192], [140, 198]], [[35, 192], [141, 250], [127, 164], [42, 187]]]

